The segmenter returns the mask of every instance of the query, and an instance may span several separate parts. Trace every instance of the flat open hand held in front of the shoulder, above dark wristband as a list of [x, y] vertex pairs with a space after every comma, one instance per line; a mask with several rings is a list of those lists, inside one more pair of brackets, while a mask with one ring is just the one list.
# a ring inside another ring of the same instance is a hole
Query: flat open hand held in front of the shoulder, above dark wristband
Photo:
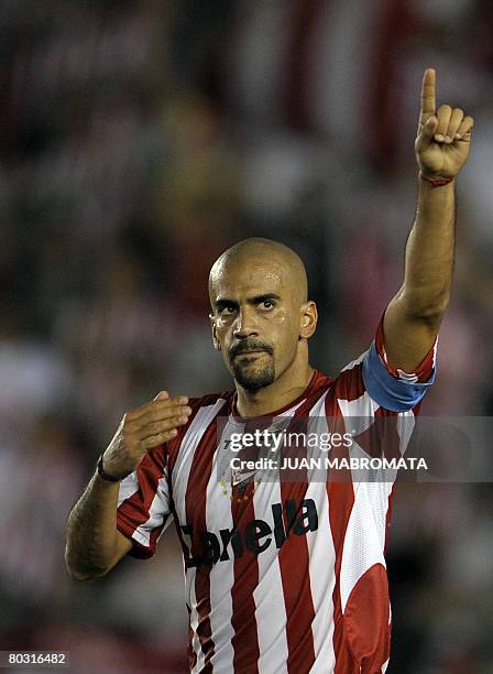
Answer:
[[161, 391], [150, 403], [127, 412], [102, 456], [105, 474], [123, 479], [149, 449], [173, 439], [191, 414], [187, 403], [184, 395]]

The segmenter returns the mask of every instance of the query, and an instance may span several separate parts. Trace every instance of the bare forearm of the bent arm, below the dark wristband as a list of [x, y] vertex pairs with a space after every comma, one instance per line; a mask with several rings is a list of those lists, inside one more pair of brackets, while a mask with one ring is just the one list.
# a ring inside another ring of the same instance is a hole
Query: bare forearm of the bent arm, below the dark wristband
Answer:
[[92, 476], [67, 521], [65, 561], [78, 579], [103, 575], [117, 551], [118, 482]]

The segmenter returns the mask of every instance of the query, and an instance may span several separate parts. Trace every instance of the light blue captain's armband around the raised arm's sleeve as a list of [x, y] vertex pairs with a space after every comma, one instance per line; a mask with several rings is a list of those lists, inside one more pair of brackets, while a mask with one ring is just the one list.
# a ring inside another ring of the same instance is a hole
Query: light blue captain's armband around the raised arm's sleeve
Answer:
[[381, 407], [391, 412], [407, 412], [425, 395], [435, 381], [435, 368], [427, 382], [398, 379], [388, 372], [373, 343], [363, 359], [363, 382], [370, 395]]

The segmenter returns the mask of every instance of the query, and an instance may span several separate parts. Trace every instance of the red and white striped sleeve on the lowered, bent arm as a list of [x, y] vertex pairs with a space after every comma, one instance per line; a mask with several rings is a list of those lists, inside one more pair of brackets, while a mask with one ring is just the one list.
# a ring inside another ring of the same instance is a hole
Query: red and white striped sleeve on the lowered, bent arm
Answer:
[[167, 455], [164, 446], [144, 455], [136, 470], [120, 482], [117, 529], [130, 539], [130, 555], [146, 559], [172, 521]]

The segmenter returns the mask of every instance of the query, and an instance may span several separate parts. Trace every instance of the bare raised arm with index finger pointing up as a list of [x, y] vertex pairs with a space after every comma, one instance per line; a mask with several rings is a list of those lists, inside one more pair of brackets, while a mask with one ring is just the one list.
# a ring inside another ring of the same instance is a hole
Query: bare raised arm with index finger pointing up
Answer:
[[436, 75], [425, 72], [415, 143], [418, 205], [406, 246], [404, 283], [384, 318], [385, 350], [394, 368], [413, 372], [429, 351], [448, 306], [453, 271], [454, 178], [471, 143], [472, 117], [436, 110]]

